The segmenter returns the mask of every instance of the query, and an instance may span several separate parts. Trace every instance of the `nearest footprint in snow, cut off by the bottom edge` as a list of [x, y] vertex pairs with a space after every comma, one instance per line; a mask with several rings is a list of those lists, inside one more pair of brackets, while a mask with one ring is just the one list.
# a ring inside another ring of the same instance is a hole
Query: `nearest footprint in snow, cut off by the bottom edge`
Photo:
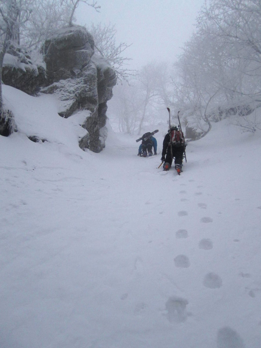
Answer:
[[218, 330], [217, 348], [245, 348], [244, 341], [240, 335], [226, 326]]

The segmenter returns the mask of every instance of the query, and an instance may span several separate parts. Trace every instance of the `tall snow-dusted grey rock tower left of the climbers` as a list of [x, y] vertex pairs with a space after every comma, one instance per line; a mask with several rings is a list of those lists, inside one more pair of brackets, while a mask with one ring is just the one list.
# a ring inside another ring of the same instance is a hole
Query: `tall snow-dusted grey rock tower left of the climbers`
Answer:
[[81, 26], [62, 29], [45, 42], [43, 50], [48, 86], [42, 92], [56, 94], [62, 117], [77, 110], [89, 111], [82, 125], [88, 134], [79, 146], [100, 152], [105, 147], [107, 101], [116, 85], [115, 71], [95, 56], [92, 36]]

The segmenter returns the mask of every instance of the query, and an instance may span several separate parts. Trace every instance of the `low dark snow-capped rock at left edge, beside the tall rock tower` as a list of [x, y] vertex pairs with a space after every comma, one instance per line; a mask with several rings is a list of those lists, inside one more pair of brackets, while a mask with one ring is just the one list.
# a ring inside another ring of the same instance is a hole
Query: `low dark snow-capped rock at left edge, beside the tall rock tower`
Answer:
[[45, 64], [36, 64], [25, 49], [11, 45], [3, 60], [2, 82], [34, 95], [46, 83]]

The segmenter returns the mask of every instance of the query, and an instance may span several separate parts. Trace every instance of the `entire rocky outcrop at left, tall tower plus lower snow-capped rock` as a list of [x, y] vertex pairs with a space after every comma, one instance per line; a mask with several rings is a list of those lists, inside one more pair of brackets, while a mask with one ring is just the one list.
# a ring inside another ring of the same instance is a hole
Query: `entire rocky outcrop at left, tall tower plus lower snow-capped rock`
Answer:
[[86, 110], [82, 126], [87, 135], [79, 146], [100, 152], [105, 147], [107, 101], [116, 85], [115, 71], [94, 54], [94, 41], [85, 27], [61, 29], [44, 43], [42, 52], [44, 63], [36, 65], [27, 52], [11, 47], [5, 56], [4, 84], [30, 95], [39, 89], [55, 94], [62, 117]]

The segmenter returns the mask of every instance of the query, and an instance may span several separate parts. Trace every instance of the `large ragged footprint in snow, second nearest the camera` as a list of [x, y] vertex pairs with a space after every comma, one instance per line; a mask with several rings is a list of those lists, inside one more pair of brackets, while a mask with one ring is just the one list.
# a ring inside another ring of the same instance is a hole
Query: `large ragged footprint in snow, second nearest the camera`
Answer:
[[171, 296], [166, 302], [167, 319], [170, 323], [183, 323], [189, 315], [186, 311], [188, 302], [186, 299]]

